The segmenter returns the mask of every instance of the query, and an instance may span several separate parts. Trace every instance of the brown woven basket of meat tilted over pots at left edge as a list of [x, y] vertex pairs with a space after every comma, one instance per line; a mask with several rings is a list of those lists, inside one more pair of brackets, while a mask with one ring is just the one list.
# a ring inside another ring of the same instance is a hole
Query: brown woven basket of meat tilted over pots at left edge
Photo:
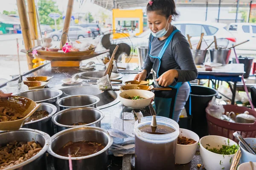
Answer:
[[26, 120], [29, 119], [40, 105], [41, 104], [37, 104], [33, 100], [22, 96], [11, 96], [6, 99], [0, 99], [0, 107], [14, 108], [17, 112], [26, 115], [22, 119], [0, 122], [0, 130], [18, 130], [26, 123]]

